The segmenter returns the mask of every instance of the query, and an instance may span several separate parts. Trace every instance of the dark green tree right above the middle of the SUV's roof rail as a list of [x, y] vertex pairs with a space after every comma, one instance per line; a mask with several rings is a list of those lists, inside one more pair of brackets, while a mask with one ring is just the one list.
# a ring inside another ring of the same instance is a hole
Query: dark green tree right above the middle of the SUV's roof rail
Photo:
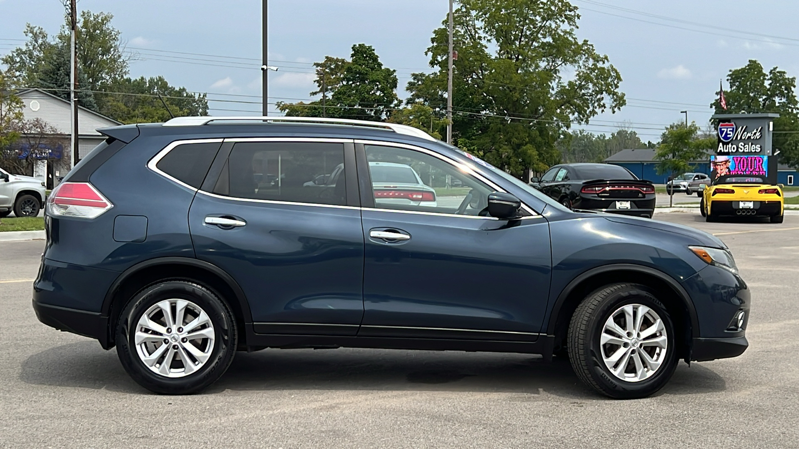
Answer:
[[396, 70], [385, 68], [372, 46], [356, 44], [350, 61], [328, 56], [315, 66], [320, 89], [311, 94], [321, 93], [324, 77], [329, 92], [324, 111], [321, 101], [279, 103], [277, 109], [288, 116], [321, 117], [324, 113], [327, 117], [384, 121], [400, 105]]

